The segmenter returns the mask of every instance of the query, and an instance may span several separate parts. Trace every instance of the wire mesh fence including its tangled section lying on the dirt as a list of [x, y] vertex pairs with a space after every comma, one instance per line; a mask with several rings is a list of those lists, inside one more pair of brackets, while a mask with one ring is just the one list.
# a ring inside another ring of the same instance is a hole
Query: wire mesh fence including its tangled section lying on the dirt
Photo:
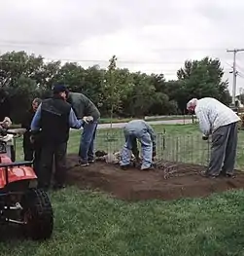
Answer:
[[[98, 131], [95, 150], [107, 153], [120, 152], [124, 145], [122, 130]], [[140, 143], [137, 143], [141, 152]], [[206, 168], [210, 157], [210, 141], [203, 141], [200, 134], [157, 133], [155, 166], [163, 171], [164, 178], [186, 172], [199, 172]], [[185, 175], [184, 174], [184, 175]]]

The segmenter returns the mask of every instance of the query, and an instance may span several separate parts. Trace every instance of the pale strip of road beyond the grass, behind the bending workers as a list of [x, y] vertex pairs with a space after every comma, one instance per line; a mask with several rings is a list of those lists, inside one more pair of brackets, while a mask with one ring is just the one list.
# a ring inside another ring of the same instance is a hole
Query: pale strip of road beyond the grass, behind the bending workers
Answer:
[[[148, 121], [150, 125], [183, 125], [192, 124], [192, 119], [175, 119], [175, 120], [158, 120], [158, 121]], [[115, 123], [112, 128], [123, 128], [126, 123]], [[110, 124], [99, 124], [98, 128], [110, 128]]]

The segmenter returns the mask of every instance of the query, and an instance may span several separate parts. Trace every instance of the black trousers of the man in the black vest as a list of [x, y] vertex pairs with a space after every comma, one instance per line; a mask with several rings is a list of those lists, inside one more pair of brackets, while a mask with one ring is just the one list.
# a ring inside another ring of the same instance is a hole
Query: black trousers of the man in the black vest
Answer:
[[48, 189], [52, 180], [52, 164], [54, 158], [54, 183], [64, 185], [66, 179], [66, 152], [67, 142], [44, 143], [42, 145], [40, 172], [38, 173], [38, 184], [40, 188]]

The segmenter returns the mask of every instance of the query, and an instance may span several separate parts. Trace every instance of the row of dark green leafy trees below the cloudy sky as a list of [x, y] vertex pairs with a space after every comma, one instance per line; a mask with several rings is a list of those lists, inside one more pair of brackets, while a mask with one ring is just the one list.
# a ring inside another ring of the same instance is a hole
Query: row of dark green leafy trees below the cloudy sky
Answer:
[[230, 103], [227, 81], [219, 59], [204, 57], [186, 60], [177, 71], [177, 80], [166, 81], [163, 74], [130, 72], [117, 67], [117, 57], [106, 69], [76, 62], [46, 62], [42, 55], [8, 52], [0, 55], [0, 87], [9, 93], [12, 119], [20, 122], [36, 96], [46, 98], [54, 83], [65, 83], [71, 91], [86, 94], [102, 117], [143, 117], [184, 114], [192, 97], [212, 96]]

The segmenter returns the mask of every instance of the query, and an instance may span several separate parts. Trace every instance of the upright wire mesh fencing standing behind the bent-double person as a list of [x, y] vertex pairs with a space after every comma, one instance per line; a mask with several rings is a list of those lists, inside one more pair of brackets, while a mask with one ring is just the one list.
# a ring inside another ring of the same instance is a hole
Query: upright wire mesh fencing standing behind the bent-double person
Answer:
[[[95, 150], [114, 153], [122, 150], [124, 145], [122, 131], [98, 132]], [[140, 147], [140, 143], [138, 143]], [[210, 155], [209, 141], [203, 141], [200, 135], [170, 135], [157, 133], [157, 160], [208, 165]]]

